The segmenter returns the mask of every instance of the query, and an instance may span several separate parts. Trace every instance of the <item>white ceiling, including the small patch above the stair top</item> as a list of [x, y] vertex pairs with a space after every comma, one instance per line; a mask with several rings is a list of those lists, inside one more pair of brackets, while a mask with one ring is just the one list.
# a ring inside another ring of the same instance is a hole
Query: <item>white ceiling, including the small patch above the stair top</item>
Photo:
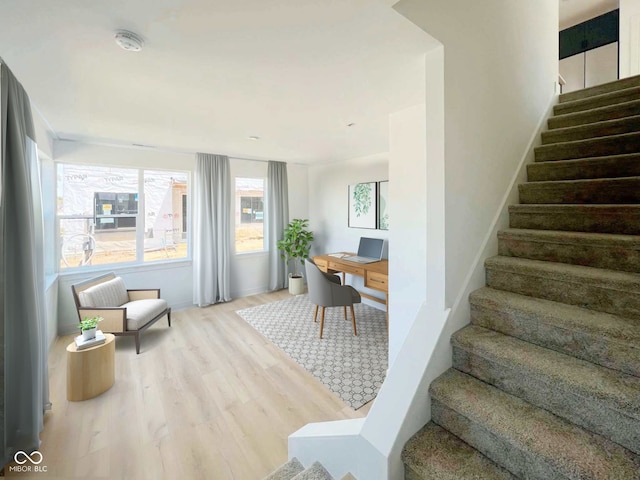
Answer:
[[[611, 1], [560, 0], [561, 25]], [[0, 0], [0, 57], [62, 139], [330, 162], [387, 151], [424, 99], [433, 44], [393, 3]]]

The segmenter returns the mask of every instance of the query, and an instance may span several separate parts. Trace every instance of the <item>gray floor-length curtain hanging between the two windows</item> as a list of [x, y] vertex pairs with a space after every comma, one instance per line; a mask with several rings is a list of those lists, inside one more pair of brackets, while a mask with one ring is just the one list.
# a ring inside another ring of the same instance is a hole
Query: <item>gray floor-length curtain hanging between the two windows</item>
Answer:
[[231, 174], [229, 157], [198, 153], [193, 215], [193, 303], [231, 300]]

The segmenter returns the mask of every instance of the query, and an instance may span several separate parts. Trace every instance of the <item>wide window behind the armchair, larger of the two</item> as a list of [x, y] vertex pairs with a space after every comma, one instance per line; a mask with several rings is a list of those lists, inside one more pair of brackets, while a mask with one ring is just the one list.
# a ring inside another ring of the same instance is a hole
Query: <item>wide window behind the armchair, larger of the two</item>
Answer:
[[187, 175], [58, 164], [60, 268], [186, 258]]

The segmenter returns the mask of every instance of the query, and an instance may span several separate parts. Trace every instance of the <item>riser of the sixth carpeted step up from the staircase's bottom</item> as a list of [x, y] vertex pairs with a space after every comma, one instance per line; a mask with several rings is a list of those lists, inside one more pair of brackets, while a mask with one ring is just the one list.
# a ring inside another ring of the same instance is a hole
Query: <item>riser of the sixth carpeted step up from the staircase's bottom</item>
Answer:
[[500, 235], [498, 254], [585, 267], [640, 272], [640, 248], [624, 245], [567, 243], [563, 240]]

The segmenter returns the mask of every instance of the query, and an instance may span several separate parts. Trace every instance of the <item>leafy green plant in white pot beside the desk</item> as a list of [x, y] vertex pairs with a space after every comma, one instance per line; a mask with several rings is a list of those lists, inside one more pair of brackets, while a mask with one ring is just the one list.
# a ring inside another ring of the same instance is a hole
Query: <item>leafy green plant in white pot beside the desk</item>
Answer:
[[278, 242], [280, 256], [286, 260], [287, 265], [293, 260], [293, 272], [289, 273], [289, 293], [300, 295], [304, 292], [304, 280], [302, 279], [302, 266], [304, 259], [309, 256], [313, 233], [308, 230], [309, 220], [306, 218], [294, 218], [284, 229], [282, 240]]

